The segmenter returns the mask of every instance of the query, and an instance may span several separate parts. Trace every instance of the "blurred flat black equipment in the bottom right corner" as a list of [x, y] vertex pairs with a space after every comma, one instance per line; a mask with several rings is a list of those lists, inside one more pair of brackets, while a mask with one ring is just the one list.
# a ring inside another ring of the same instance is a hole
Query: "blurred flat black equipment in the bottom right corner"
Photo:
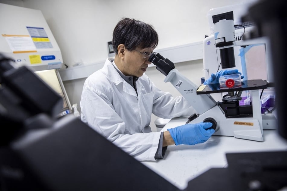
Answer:
[[227, 153], [226, 158], [227, 168], [209, 169], [190, 180], [184, 191], [279, 191], [287, 188], [286, 151]]

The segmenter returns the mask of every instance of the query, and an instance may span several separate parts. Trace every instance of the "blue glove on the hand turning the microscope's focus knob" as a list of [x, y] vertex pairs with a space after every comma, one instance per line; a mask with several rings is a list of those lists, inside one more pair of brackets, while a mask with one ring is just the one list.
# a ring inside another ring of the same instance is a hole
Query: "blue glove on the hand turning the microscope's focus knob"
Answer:
[[212, 127], [212, 123], [205, 122], [181, 125], [167, 130], [171, 133], [175, 145], [195, 145], [206, 142], [212, 136], [215, 130], [212, 128], [208, 129], [210, 127]]

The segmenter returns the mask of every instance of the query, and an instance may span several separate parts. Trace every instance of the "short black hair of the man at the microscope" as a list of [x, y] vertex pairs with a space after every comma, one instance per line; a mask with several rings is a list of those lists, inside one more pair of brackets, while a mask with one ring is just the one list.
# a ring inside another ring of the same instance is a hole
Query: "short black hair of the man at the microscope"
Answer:
[[124, 44], [129, 51], [155, 48], [158, 45], [158, 33], [152, 25], [130, 18], [123, 18], [113, 30], [113, 49], [118, 54], [118, 45]]

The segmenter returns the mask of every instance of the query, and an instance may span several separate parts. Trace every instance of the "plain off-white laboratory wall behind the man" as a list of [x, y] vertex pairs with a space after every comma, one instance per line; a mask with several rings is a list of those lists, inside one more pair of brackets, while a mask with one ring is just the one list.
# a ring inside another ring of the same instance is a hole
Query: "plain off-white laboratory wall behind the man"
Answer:
[[[64, 64], [68, 68], [76, 68], [77, 65], [106, 60], [107, 42], [112, 40], [113, 28], [122, 17], [135, 18], [152, 24], [159, 36], [157, 49], [164, 49], [202, 41], [205, 35], [210, 34], [206, 17], [210, 9], [239, 4], [247, 0], [0, 0], [0, 2], [41, 10], [61, 49]], [[168, 58], [168, 55], [164, 56]], [[64, 67], [62, 69], [65, 69]], [[184, 75], [194, 83], [200, 84], [200, 77], [203, 76], [202, 59], [177, 63], [176, 67], [182, 69]], [[155, 67], [149, 67], [146, 74], [159, 88], [178, 95], [173, 86], [163, 82], [164, 75]], [[64, 81], [71, 104], [79, 104], [84, 81], [85, 78]]]

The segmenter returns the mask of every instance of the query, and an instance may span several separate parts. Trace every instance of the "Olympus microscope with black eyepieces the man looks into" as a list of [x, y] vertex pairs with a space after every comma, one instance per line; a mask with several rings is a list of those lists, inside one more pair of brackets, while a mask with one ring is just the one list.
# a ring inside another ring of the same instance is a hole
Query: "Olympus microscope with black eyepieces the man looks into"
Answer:
[[[212, 18], [215, 24], [215, 34], [209, 37], [209, 39], [213, 38], [214, 40], [210, 40], [208, 43], [213, 43], [214, 50], [219, 50], [222, 69], [233, 68], [235, 67], [234, 46], [240, 43], [245, 46], [249, 44], [235, 42], [232, 11], [214, 15]], [[204, 58], [208, 57], [206, 53], [203, 56]], [[261, 79], [255, 79], [243, 80], [241, 81], [241, 87], [236, 88], [221, 89], [219, 84], [201, 85], [198, 87], [180, 74], [175, 69], [174, 63], [159, 53], [152, 53], [149, 61], [155, 64], [156, 68], [166, 76], [164, 82], [172, 83], [198, 112], [191, 115], [187, 123], [212, 122], [215, 129], [214, 135], [263, 141], [260, 90], [271, 86], [270, 83]], [[217, 59], [212, 61], [217, 62]], [[247, 90], [252, 95], [252, 105], [240, 105], [241, 94]], [[219, 102], [211, 96], [213, 93], [225, 93], [226, 95]]]

